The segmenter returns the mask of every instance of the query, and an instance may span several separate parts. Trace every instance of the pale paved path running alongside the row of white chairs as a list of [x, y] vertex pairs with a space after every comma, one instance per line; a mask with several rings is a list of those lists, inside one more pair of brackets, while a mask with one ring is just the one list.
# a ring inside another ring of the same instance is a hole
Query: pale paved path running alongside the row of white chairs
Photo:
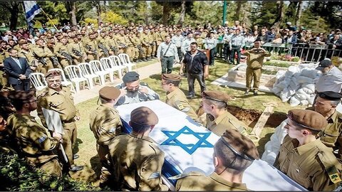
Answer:
[[[133, 68], [135, 70], [135, 68]], [[140, 80], [143, 80], [145, 78], [150, 77], [150, 75], [158, 74], [162, 71], [162, 67], [160, 66], [160, 63], [157, 63], [157, 61], [153, 64], [147, 65], [142, 68], [137, 68], [135, 70], [140, 75]], [[115, 78], [114, 82], [105, 82], [105, 85], [119, 85], [123, 81], [119, 78]], [[88, 87], [81, 88], [81, 91], [76, 93], [74, 97], [75, 105], [77, 105], [80, 102], [84, 102], [86, 100], [90, 100], [94, 97], [98, 96], [98, 90], [103, 87], [102, 85], [94, 85], [93, 89], [89, 90]]]

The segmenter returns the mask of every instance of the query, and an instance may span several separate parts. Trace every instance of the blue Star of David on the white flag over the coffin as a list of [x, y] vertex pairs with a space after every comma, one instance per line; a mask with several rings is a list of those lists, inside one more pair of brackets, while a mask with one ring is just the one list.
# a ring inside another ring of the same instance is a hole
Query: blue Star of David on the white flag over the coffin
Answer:
[[[185, 126], [182, 129], [180, 129], [177, 132], [174, 131], [162, 131], [164, 134], [169, 137], [165, 140], [165, 142], [162, 142], [160, 145], [172, 145], [172, 146], [180, 146], [182, 149], [187, 151], [188, 154], [193, 154], [199, 147], [214, 147], [212, 144], [207, 142], [207, 138], [210, 135], [210, 132], [207, 133], [199, 133], [194, 132], [189, 127]], [[199, 141], [196, 144], [182, 144], [182, 142], [178, 141], [177, 137], [180, 136], [180, 134], [190, 134], [195, 136]]]

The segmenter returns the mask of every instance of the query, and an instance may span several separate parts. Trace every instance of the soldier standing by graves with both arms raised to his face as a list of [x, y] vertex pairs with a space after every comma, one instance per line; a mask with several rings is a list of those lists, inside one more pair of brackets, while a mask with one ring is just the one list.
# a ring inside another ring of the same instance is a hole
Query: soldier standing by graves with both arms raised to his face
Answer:
[[244, 92], [244, 95], [247, 95], [249, 90], [251, 90], [252, 80], [254, 81], [254, 95], [258, 95], [262, 64], [264, 63], [264, 58], [271, 56], [271, 53], [261, 48], [261, 41], [257, 39], [254, 41], [254, 48], [246, 50], [244, 55], [247, 55], [246, 92]]

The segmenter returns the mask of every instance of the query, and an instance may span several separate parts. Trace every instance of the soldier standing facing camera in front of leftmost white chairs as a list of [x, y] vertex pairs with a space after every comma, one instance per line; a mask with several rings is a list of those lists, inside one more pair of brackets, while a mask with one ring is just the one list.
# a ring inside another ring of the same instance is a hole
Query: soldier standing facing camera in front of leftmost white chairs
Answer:
[[48, 87], [38, 93], [38, 116], [45, 127], [46, 121], [43, 115], [42, 108], [46, 110], [53, 110], [59, 113], [63, 125], [63, 147], [68, 156], [68, 164], [70, 171], [80, 171], [83, 166], [76, 166], [74, 159], [77, 159], [78, 154], [73, 154], [77, 140], [76, 120], [79, 120], [78, 111], [73, 103], [73, 96], [71, 95], [70, 87], [61, 85], [61, 73], [57, 70], [51, 70], [45, 75]]

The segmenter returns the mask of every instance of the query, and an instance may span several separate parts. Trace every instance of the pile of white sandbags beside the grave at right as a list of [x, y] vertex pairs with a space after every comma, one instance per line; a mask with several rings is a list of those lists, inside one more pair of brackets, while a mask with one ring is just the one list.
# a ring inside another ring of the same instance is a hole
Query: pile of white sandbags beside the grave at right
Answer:
[[321, 72], [316, 70], [318, 64], [309, 63], [298, 66], [290, 66], [286, 73], [276, 73], [276, 83], [272, 91], [281, 98], [282, 102], [288, 102], [291, 106], [312, 105], [315, 98], [315, 82]]

